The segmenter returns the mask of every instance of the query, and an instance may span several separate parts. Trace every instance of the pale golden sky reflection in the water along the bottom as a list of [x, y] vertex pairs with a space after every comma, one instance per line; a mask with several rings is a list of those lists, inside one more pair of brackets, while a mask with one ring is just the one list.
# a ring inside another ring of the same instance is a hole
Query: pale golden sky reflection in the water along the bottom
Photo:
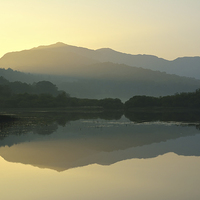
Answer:
[[168, 153], [56, 173], [0, 158], [4, 200], [197, 200], [200, 158]]

